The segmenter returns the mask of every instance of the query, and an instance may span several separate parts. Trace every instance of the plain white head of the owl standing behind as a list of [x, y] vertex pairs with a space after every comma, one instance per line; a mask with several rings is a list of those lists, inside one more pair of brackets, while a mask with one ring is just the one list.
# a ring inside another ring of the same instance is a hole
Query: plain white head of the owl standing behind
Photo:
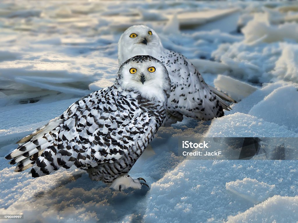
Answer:
[[151, 55], [158, 58], [163, 50], [156, 32], [145, 25], [131, 26], [125, 30], [118, 42], [119, 66], [136, 55]]

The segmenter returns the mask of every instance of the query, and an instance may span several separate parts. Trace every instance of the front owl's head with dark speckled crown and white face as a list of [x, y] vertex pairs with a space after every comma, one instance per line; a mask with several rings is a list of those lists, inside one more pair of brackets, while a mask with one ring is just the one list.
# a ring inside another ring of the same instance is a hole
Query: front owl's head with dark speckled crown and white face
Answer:
[[126, 60], [119, 68], [115, 86], [133, 91], [144, 98], [164, 101], [170, 95], [170, 77], [167, 68], [154, 57], [137, 55]]

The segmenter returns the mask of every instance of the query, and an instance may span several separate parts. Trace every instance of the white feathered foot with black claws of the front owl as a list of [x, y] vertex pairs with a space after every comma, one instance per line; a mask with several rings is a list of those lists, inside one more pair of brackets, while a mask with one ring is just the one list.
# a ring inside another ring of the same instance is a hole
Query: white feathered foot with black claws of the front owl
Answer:
[[[140, 182], [140, 180], [145, 181], [145, 183]], [[146, 185], [149, 188], [144, 178], [139, 177], [137, 179], [132, 179], [129, 175], [123, 175], [121, 177], [117, 177], [111, 184], [110, 188], [113, 188], [115, 190], [119, 189], [119, 191], [121, 191], [129, 187], [134, 189], [141, 189], [142, 185]]]

